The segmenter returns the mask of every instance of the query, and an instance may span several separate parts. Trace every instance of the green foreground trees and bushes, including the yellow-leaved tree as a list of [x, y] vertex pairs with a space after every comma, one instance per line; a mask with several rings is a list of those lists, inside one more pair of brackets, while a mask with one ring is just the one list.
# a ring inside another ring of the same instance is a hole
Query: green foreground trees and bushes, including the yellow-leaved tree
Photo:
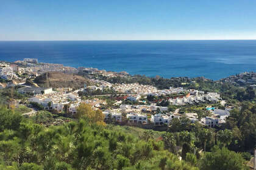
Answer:
[[[44, 122], [40, 114], [24, 118], [1, 106], [0, 169], [246, 169], [242, 155], [224, 147], [226, 140], [213, 152], [201, 155], [196, 149], [193, 154], [194, 145], [205, 148], [212, 140], [208, 129], [196, 126], [190, 132], [162, 133], [157, 139], [153, 131], [144, 131], [137, 137], [105, 127], [101, 114], [83, 104], [77, 121], [44, 127], [37, 124]], [[176, 145], [182, 146], [185, 161], [176, 156]]]

